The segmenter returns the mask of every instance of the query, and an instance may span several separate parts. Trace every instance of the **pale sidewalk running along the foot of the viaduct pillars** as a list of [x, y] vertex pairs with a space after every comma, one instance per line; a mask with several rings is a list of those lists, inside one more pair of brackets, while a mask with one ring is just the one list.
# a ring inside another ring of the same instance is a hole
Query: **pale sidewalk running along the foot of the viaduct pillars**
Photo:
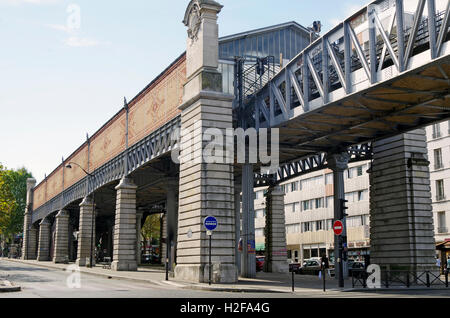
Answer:
[[[73, 264], [55, 264], [53, 262], [38, 262], [36, 260], [6, 259], [5, 261], [22, 263], [31, 266], [59, 269], [65, 271], [68, 266]], [[258, 292], [258, 293], [292, 293], [292, 274], [277, 274], [259, 272], [256, 278], [239, 278], [236, 284], [211, 284], [191, 283], [176, 280], [169, 277], [166, 281], [166, 273], [162, 266], [160, 267], [139, 267], [136, 272], [117, 272], [111, 269], [103, 269], [102, 265], [94, 268], [80, 267], [80, 272], [87, 275], [102, 276], [108, 279], [121, 279], [135, 282], [145, 282], [159, 286], [172, 286], [181, 289], [193, 289], [204, 291], [221, 292]], [[301, 292], [323, 292], [323, 282], [319, 277], [294, 275], [294, 289]], [[345, 285], [351, 287], [351, 279], [346, 280]], [[337, 281], [327, 276], [327, 291], [344, 291], [338, 288]]]

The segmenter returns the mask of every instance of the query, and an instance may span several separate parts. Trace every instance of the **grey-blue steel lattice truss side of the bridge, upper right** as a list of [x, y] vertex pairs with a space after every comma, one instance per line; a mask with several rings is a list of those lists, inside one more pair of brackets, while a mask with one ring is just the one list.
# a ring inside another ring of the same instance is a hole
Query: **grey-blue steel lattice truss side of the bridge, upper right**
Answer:
[[[282, 125], [351, 94], [370, 90], [387, 76], [392, 79], [406, 72], [410, 74], [448, 54], [445, 41], [450, 27], [450, 4], [445, 12], [437, 13], [435, 0], [419, 0], [413, 12], [413, 24], [409, 26], [404, 21], [406, 1], [395, 0], [395, 6], [387, 10], [381, 1], [373, 1], [300, 52], [257, 93], [269, 104], [269, 111], [264, 113], [259, 127]], [[430, 18], [424, 16], [426, 5]], [[355, 22], [360, 20], [368, 20], [368, 23]], [[382, 21], [388, 24], [383, 26]], [[369, 39], [362, 43], [361, 34], [367, 26]], [[301, 72], [296, 73], [299, 69]], [[448, 76], [422, 78], [448, 84]], [[294, 92], [299, 105], [293, 104], [293, 98], [283, 98], [279, 91], [283, 84], [287, 95]], [[275, 101], [282, 115], [275, 113]]]

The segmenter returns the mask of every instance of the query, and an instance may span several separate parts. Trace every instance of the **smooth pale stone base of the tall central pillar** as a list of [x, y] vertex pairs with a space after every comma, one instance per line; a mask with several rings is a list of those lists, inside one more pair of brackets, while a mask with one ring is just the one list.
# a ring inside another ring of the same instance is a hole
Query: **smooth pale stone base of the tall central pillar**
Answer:
[[[238, 281], [238, 271], [234, 264], [213, 264], [211, 281], [215, 284], [233, 284]], [[177, 265], [175, 277], [194, 283], [209, 282], [209, 265]]]

